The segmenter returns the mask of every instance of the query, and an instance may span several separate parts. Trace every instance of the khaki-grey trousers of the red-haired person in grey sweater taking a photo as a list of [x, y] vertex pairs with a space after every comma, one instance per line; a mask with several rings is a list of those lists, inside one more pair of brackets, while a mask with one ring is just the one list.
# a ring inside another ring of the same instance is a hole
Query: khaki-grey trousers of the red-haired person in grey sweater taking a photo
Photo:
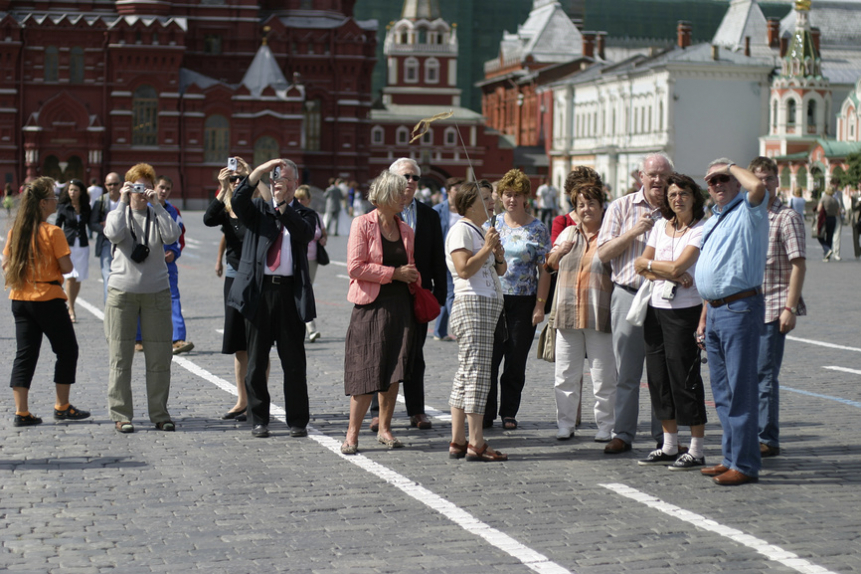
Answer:
[[131, 421], [132, 359], [138, 317], [146, 362], [146, 394], [149, 420], [167, 422], [170, 365], [173, 361], [170, 289], [158, 293], [126, 293], [108, 289], [105, 305], [105, 337], [108, 339], [108, 411], [112, 421]]

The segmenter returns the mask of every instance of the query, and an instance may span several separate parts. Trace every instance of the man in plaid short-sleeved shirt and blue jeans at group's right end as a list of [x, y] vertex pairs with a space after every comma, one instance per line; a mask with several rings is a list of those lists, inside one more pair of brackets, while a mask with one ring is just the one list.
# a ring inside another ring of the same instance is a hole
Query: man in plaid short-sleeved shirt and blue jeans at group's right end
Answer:
[[748, 169], [768, 190], [768, 257], [762, 291], [765, 295], [765, 330], [759, 337], [759, 452], [763, 457], [780, 454], [777, 377], [783, 361], [786, 334], [795, 318], [805, 315], [801, 287], [804, 284], [804, 221], [777, 197], [777, 164], [767, 157], [750, 162]]

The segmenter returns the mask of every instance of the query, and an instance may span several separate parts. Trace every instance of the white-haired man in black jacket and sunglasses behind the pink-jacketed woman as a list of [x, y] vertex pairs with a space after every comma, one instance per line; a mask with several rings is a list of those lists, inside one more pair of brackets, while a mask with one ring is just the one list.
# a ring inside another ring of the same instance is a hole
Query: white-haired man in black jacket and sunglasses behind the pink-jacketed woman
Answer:
[[[389, 171], [407, 179], [406, 207], [401, 212], [401, 219], [416, 233], [415, 260], [416, 269], [422, 276], [422, 287], [433, 292], [440, 306], [445, 305], [448, 287], [445, 277], [445, 245], [439, 224], [439, 214], [432, 207], [415, 199], [419, 179], [421, 179], [421, 168], [415, 160], [402, 157], [389, 166]], [[410, 425], [422, 430], [433, 427], [425, 414], [424, 346], [427, 335], [428, 324], [418, 323], [413, 341], [413, 368], [410, 379], [404, 381], [404, 402], [410, 417]], [[371, 413], [374, 416], [371, 420], [371, 430], [374, 432], [379, 428], [377, 412], [379, 412], [379, 403], [375, 395], [371, 403]]]

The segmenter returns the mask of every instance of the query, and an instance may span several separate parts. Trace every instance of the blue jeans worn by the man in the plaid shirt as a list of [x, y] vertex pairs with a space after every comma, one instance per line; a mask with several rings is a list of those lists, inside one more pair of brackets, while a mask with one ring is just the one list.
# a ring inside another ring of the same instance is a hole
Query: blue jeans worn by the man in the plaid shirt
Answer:
[[783, 363], [786, 333], [780, 332], [780, 320], [765, 324], [759, 337], [759, 442], [780, 446], [779, 392], [777, 376]]

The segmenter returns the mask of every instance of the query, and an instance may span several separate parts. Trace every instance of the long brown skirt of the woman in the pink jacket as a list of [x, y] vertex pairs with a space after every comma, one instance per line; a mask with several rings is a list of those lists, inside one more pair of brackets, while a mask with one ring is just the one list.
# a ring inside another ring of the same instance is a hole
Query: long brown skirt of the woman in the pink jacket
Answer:
[[[412, 295], [383, 289], [376, 301], [353, 307], [344, 352], [344, 394], [386, 392], [409, 379], [415, 332]], [[384, 286], [385, 287], [385, 286]]]

